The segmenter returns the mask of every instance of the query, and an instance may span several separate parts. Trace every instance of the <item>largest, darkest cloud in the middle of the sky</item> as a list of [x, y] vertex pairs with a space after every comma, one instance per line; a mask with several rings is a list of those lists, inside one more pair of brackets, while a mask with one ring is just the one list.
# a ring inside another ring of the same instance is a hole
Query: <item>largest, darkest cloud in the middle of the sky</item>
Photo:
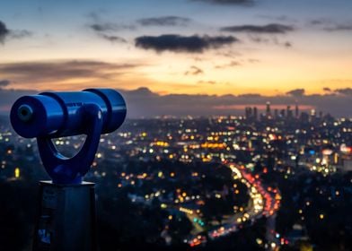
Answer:
[[225, 45], [238, 42], [233, 36], [203, 36], [189, 37], [167, 34], [161, 36], [143, 36], [135, 39], [137, 48], [154, 49], [156, 52], [173, 51], [200, 53], [210, 48], [221, 48]]

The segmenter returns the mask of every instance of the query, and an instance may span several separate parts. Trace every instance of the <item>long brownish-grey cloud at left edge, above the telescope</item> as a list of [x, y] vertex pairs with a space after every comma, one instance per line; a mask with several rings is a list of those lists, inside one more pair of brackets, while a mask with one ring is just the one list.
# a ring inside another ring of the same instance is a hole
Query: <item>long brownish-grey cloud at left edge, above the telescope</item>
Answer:
[[0, 64], [0, 74], [16, 82], [59, 82], [71, 79], [109, 79], [139, 65], [101, 61], [44, 61]]

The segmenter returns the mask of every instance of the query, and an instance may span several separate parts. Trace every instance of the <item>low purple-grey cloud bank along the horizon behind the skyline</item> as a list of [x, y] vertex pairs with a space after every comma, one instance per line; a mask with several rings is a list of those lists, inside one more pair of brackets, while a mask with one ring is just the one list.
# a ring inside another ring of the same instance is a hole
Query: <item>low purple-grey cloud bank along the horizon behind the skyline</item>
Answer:
[[[350, 117], [349, 104], [350, 95], [304, 95], [295, 93], [282, 96], [262, 96], [260, 94], [227, 94], [216, 95], [189, 95], [189, 94], [167, 94], [160, 95], [147, 88], [136, 90], [119, 90], [128, 104], [128, 117], [186, 117], [186, 116], [243, 116], [245, 108], [258, 109], [258, 117], [265, 114], [267, 103], [270, 103], [272, 115], [274, 110], [280, 111], [290, 106], [310, 114], [314, 111], [318, 116], [320, 113], [330, 114], [334, 117]], [[7, 90], [0, 88], [0, 115], [7, 116], [14, 102], [23, 95], [34, 95], [40, 91], [34, 90]]]

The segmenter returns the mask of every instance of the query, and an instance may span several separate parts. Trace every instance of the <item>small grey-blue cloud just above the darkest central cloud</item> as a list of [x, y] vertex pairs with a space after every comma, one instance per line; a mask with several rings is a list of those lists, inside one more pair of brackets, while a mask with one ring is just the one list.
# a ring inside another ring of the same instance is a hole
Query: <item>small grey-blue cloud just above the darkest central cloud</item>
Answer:
[[137, 20], [143, 26], [186, 26], [191, 20], [180, 16], [151, 17]]

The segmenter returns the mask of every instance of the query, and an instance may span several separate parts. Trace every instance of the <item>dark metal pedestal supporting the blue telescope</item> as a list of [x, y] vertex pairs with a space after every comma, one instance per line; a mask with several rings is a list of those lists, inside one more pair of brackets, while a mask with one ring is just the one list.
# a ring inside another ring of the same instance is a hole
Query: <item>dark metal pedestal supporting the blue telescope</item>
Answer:
[[94, 184], [40, 181], [33, 251], [96, 251]]

